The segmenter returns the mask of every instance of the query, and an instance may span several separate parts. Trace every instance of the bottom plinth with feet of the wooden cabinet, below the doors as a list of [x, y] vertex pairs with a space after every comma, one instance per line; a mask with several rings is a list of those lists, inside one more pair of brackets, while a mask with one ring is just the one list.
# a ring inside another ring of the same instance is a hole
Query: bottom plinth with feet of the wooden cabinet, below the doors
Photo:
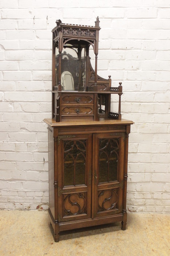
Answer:
[[103, 218], [96, 218], [96, 219], [84, 219], [80, 221], [69, 221], [68, 222], [58, 222], [55, 221], [52, 217], [50, 209], [48, 209], [48, 216], [50, 218], [50, 223], [54, 230], [54, 241], [59, 242], [59, 233], [60, 231], [66, 231], [71, 229], [78, 229], [82, 227], [90, 227], [90, 226], [97, 226], [103, 224], [110, 224], [114, 222], [122, 222], [122, 230], [126, 230], [126, 221], [127, 221], [127, 213], [120, 213], [115, 214], [112, 217], [103, 217]]

